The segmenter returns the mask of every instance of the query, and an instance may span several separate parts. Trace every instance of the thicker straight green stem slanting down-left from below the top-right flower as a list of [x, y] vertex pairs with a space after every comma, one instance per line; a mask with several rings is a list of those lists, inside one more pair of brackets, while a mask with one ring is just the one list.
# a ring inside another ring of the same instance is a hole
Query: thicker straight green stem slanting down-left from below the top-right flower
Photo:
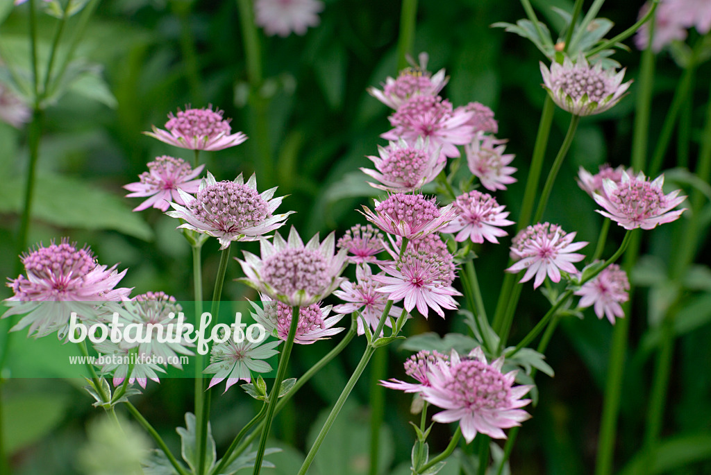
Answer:
[[[548, 137], [550, 136], [550, 125], [553, 121], [553, 112], [555, 111], [555, 103], [553, 99], [546, 94], [545, 102], [543, 104], [543, 111], [540, 116], [540, 123], [538, 124], [538, 134], [536, 135], [535, 145], [533, 146], [533, 158], [531, 159], [531, 166], [528, 172], [528, 178], [526, 180], [526, 187], [523, 192], [523, 203], [521, 204], [521, 213], [518, 217], [518, 224], [516, 225], [516, 231], [528, 226], [530, 222], [531, 214], [533, 213], [533, 203], [535, 200], [536, 192], [538, 191], [538, 182], [540, 182], [540, 173], [543, 167], [543, 160], [545, 158], [545, 149], [548, 144]], [[511, 266], [513, 262], [509, 261], [508, 266]], [[501, 293], [498, 297], [498, 302], [496, 304], [496, 312], [493, 317], [493, 322], [491, 327], [494, 332], [501, 336], [503, 330], [506, 329], [505, 333], [508, 334], [508, 327], [510, 327], [510, 322], [506, 317], [508, 306], [513, 300], [518, 302], [518, 297], [513, 298], [513, 289], [516, 286], [516, 276], [511, 273], [506, 273], [503, 278], [503, 284], [501, 285]], [[518, 285], [520, 287], [520, 285]], [[520, 290], [519, 290], [520, 293]], [[514, 305], [515, 307], [515, 305]], [[513, 315], [513, 312], [511, 312]], [[501, 341], [504, 344], [506, 338], [502, 337]], [[502, 346], [503, 347], [503, 346]]]

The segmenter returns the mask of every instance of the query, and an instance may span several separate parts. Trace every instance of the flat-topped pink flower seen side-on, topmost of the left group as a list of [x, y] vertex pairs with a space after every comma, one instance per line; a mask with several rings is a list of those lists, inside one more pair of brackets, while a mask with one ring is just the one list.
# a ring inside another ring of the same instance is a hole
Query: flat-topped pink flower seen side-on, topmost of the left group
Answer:
[[153, 126], [152, 132], [144, 132], [147, 136], [157, 138], [161, 142], [188, 150], [217, 151], [233, 147], [247, 140], [242, 132], [232, 133], [230, 121], [223, 119], [224, 111], [210, 105], [207, 109], [178, 110], [173, 116], [168, 114], [166, 129]]

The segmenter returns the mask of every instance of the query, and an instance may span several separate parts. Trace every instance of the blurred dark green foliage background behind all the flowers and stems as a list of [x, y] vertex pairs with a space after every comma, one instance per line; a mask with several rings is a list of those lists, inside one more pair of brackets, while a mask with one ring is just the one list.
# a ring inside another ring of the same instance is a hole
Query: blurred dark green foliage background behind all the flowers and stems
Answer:
[[[315, 232], [325, 235], [334, 229], [340, 236], [349, 226], [364, 222], [355, 209], [368, 204], [368, 197], [376, 193], [364, 185], [365, 175], [358, 167], [370, 164], [365, 155], [377, 153], [376, 146], [385, 144], [379, 134], [389, 128], [389, 111], [365, 88], [377, 86], [396, 73], [400, 2], [326, 0], [325, 4], [321, 25], [309, 29], [306, 36], [262, 37], [264, 84], [255, 90], [247, 82], [235, 2], [102, 1], [78, 53], [102, 65], [98, 77], [105, 80], [107, 89], [99, 81], [80, 84], [47, 109], [29, 242], [47, 244], [51, 239], [70, 236], [79, 244], [89, 244], [101, 263], [119, 263], [120, 269], [128, 268], [122, 286], [134, 288], [134, 293], [164, 290], [178, 299], [190, 300], [190, 248], [174, 231], [175, 220], [156, 209], [130, 212], [140, 201], [124, 198], [121, 188], [136, 181], [156, 155], [192, 159], [191, 151], [171, 148], [141, 134], [150, 130], [151, 124], [162, 127], [168, 112], [186, 104], [214, 104], [225, 110], [225, 116], [232, 117], [233, 131], [245, 131], [250, 136], [235, 148], [203, 154], [208, 169], [218, 180], [231, 180], [239, 173], [249, 175], [256, 170], [260, 190], [279, 185], [277, 193], [289, 195], [281, 209], [297, 212], [289, 217], [289, 225], [296, 226], [301, 236], [308, 238]], [[534, 2], [555, 32], [562, 27], [560, 17], [547, 4], [544, 0]], [[550, 4], [572, 9], [572, 1]], [[612, 34], [616, 34], [636, 21], [639, 6], [638, 1], [608, 2], [601, 16], [614, 21]], [[519, 181], [508, 191], [498, 193], [499, 202], [507, 205], [513, 219], [520, 207], [545, 99], [538, 67], [538, 61], [545, 58], [523, 38], [489, 25], [496, 21], [513, 23], [523, 16], [520, 4], [514, 0], [421, 0], [414, 48], [415, 53], [429, 53], [429, 70], [447, 68], [451, 80], [442, 94], [455, 107], [476, 100], [496, 112], [498, 137], [508, 138], [507, 152], [516, 154], [512, 165], [518, 168], [515, 176]], [[41, 16], [40, 21], [39, 31], [48, 42], [53, 20]], [[27, 50], [26, 25], [26, 8], [16, 9], [0, 25], [4, 50], [19, 55]], [[631, 40], [626, 43], [632, 45]], [[627, 67], [627, 78], [636, 77], [640, 53], [634, 46], [629, 51], [620, 50], [615, 59]], [[708, 99], [707, 80], [700, 78], [710, 75], [708, 64], [700, 67], [693, 90], [695, 100], [685, 111], [692, 124], [690, 165], [694, 165]], [[649, 131], [652, 146], [678, 77], [680, 69], [668, 54], [661, 54]], [[611, 111], [582, 120], [552, 192], [545, 219], [560, 223], [567, 231], [578, 231], [579, 240], [594, 243], [602, 217], [594, 212], [594, 202], [579, 190], [574, 176], [580, 165], [594, 170], [605, 162], [629, 164], [635, 84], [630, 91]], [[254, 138], [258, 134], [255, 106], [260, 107], [259, 104], [267, 108], [268, 160]], [[568, 121], [567, 114], [556, 111], [546, 170]], [[26, 132], [0, 124], [0, 276], [17, 275], [16, 232], [26, 163]], [[675, 164], [672, 147], [665, 165]], [[653, 271], [640, 275], [664, 275], [670, 236], [678, 225], [679, 222], [666, 225], [646, 235], [643, 253], [651, 257], [643, 263], [652, 266]], [[621, 236], [621, 229], [614, 226], [606, 255], [616, 249], [614, 242], [619, 243]], [[508, 239], [504, 239], [499, 246], [485, 244], [476, 248], [483, 299], [492, 311], [503, 278], [507, 244]], [[258, 249], [253, 243], [238, 247], [255, 252]], [[205, 292], [209, 295], [219, 261], [218, 246], [210, 240], [203, 249]], [[592, 253], [592, 249], [587, 252]], [[688, 452], [693, 452], [690, 459], [699, 459], [709, 457], [711, 452], [710, 436], [703, 432], [711, 421], [711, 286], [705, 273], [707, 270], [700, 271], [695, 290], [688, 290], [688, 297], [683, 299], [684, 305], [693, 310], [687, 311], [685, 319], [679, 319], [687, 324], [680, 332], [695, 331], [681, 334], [676, 346], [663, 437], [689, 439], [678, 442], [681, 448], [668, 448], [670, 460], [683, 458]], [[232, 281], [240, 275], [237, 263], [230, 264], [224, 300], [256, 297], [245, 285]], [[663, 305], [665, 287], [663, 279], [652, 280], [646, 283], [652, 290], [636, 291], [634, 315], [628, 316], [631, 350], [616, 451], [619, 467], [629, 462], [640, 447], [651, 355], [658, 342], [658, 330], [650, 329], [648, 320]], [[523, 290], [511, 342], [518, 342], [547, 310], [545, 299], [530, 287], [526, 285]], [[9, 295], [9, 289], [0, 290], [0, 297]], [[452, 313], [447, 320], [434, 314], [429, 320], [417, 317], [405, 330], [407, 334], [427, 331], [445, 334], [467, 329], [461, 317]], [[525, 422], [520, 432], [511, 460], [513, 473], [592, 471], [611, 331], [609, 322], [597, 320], [592, 311], [586, 312], [584, 320], [571, 318], [561, 325], [547, 351], [555, 378], [538, 376], [540, 404], [531, 408], [533, 419]], [[14, 335], [24, 337], [23, 332]], [[298, 376], [305, 371], [333, 346], [333, 340], [297, 346], [289, 373]], [[274, 436], [289, 448], [270, 458], [282, 463], [274, 473], [296, 470], [299, 457], [303, 459], [302, 452], [309, 448], [307, 444], [318, 430], [312, 427], [316, 415], [336, 400], [363, 345], [356, 339], [341, 359], [327, 366], [277, 417]], [[388, 351], [387, 374], [402, 378], [402, 361], [410, 352], [397, 349], [397, 345], [389, 346]], [[322, 475], [364, 473], [363, 467], [368, 466], [368, 444], [361, 439], [369, 437], [367, 376], [368, 373], [356, 386], [348, 410], [334, 428], [334, 439], [350, 445], [338, 446], [334, 440], [335, 445], [322, 449], [319, 462], [314, 465]], [[90, 398], [80, 390], [81, 385], [80, 381], [58, 379], [6, 381], [2, 400], [4, 433], [9, 437], [11, 463], [18, 473], [77, 472], [75, 454], [77, 447], [85, 443], [85, 424], [100, 413], [90, 406]], [[135, 400], [171, 447], [178, 447], [174, 428], [183, 424], [186, 411], [193, 410], [192, 391], [191, 381], [166, 378], [160, 384], [151, 383], [144, 395]], [[409, 460], [415, 434], [407, 425], [413, 418], [409, 413], [410, 396], [387, 391], [386, 397], [386, 425], [381, 439], [383, 473], [390, 473]], [[218, 452], [255, 410], [253, 401], [237, 386], [225, 395], [215, 393], [212, 424]], [[450, 434], [446, 425], [435, 425], [431, 451], [444, 449]], [[336, 460], [329, 461], [335, 454]], [[350, 458], [343, 462], [341, 457], [346, 454]], [[447, 473], [457, 473], [459, 462], [455, 460]], [[324, 468], [331, 466], [338, 467], [338, 471]], [[674, 473], [709, 471], [711, 465], [700, 462]]]

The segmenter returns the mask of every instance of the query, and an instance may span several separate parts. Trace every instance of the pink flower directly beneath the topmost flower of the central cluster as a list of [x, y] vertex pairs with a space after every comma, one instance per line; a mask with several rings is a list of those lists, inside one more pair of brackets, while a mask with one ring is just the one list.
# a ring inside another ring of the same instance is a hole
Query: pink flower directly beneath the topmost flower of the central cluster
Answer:
[[388, 120], [394, 129], [380, 135], [387, 140], [415, 143], [417, 137], [429, 138], [429, 151], [441, 149], [439, 161], [459, 157], [458, 145], [471, 142], [474, 112], [453, 110], [447, 99], [439, 96], [415, 95], [403, 102]]

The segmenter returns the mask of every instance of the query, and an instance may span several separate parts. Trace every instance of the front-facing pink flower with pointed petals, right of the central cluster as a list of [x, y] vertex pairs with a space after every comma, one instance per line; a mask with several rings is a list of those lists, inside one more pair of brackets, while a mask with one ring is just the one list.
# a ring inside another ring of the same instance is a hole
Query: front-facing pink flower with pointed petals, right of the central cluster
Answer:
[[582, 261], [585, 256], [573, 251], [584, 248], [587, 242], [574, 243], [575, 234], [567, 234], [560, 226], [550, 223], [538, 223], [522, 229], [511, 246], [512, 256], [520, 258], [520, 261], [506, 271], [517, 273], [525, 269], [520, 282], [528, 282], [535, 275], [533, 288], [543, 283], [546, 274], [553, 282], [560, 282], [560, 271], [577, 273], [572, 263]]

